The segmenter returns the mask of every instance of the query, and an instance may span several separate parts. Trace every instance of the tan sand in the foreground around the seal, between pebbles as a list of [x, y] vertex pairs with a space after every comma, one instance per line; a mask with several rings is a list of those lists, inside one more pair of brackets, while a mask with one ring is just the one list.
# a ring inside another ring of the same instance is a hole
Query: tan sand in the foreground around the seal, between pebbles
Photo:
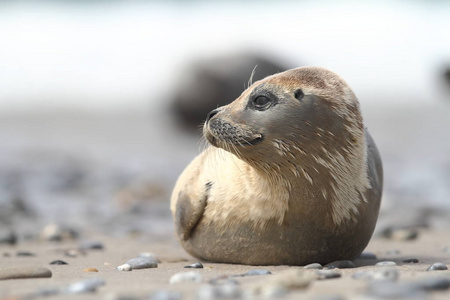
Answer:
[[[77, 295], [58, 294], [56, 299], [119, 299], [118, 296], [133, 296], [147, 299], [156, 291], [178, 291], [182, 299], [195, 299], [198, 290], [208, 284], [208, 281], [222, 275], [244, 274], [252, 269], [270, 270], [272, 275], [234, 277], [242, 290], [250, 291], [253, 286], [264, 283], [270, 276], [275, 276], [286, 269], [300, 268], [291, 266], [246, 266], [232, 264], [217, 264], [203, 262], [203, 269], [185, 269], [184, 266], [198, 261], [190, 257], [175, 238], [146, 235], [136, 235], [121, 238], [111, 238], [105, 235], [91, 234], [84, 237], [89, 240], [100, 241], [103, 250], [86, 250], [85, 254], [69, 257], [64, 252], [77, 249], [80, 241], [68, 242], [20, 242], [15, 246], [2, 245], [0, 247], [1, 269], [8, 267], [45, 267], [52, 271], [51, 278], [15, 279], [0, 281], [0, 299], [21, 299], [36, 293], [40, 289], [63, 288], [69, 284], [89, 278], [101, 278], [105, 281], [96, 292]], [[419, 231], [419, 236], [410, 241], [395, 241], [382, 237], [375, 237], [369, 243], [366, 251], [377, 256], [377, 260], [356, 260], [356, 268], [339, 269], [341, 278], [314, 280], [305, 289], [292, 290], [283, 299], [316, 299], [319, 296], [339, 295], [343, 299], [362, 297], [367, 291], [369, 282], [353, 279], [352, 274], [360, 271], [380, 270], [373, 266], [377, 261], [394, 261], [399, 271], [399, 282], [415, 282], [425, 277], [444, 276], [450, 279], [450, 271], [426, 271], [428, 266], [441, 262], [450, 266], [449, 230]], [[447, 248], [448, 249], [448, 248]], [[30, 251], [32, 257], [16, 256], [17, 251]], [[130, 272], [117, 271], [115, 268], [128, 259], [138, 256], [142, 252], [151, 252], [158, 257], [160, 263], [157, 268], [133, 270]], [[407, 258], [417, 258], [418, 263], [403, 263]], [[63, 260], [68, 265], [50, 265], [53, 260]], [[85, 268], [96, 268], [98, 272], [84, 272]], [[197, 271], [203, 276], [202, 283], [169, 284], [170, 277], [178, 272]], [[314, 274], [315, 270], [305, 271]], [[435, 291], [428, 294], [429, 299], [449, 299], [450, 290]], [[111, 297], [111, 298], [108, 298]], [[256, 297], [255, 299], [258, 299]], [[363, 299], [363, 298], [361, 298]]]

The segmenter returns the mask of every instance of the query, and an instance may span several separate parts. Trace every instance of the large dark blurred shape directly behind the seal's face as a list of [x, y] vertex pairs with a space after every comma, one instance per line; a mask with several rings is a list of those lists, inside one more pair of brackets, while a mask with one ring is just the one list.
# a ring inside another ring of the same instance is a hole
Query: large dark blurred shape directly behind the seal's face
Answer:
[[193, 62], [174, 82], [172, 112], [186, 125], [198, 128], [211, 110], [239, 97], [255, 67], [253, 82], [287, 69], [275, 59], [258, 54], [227, 55]]

